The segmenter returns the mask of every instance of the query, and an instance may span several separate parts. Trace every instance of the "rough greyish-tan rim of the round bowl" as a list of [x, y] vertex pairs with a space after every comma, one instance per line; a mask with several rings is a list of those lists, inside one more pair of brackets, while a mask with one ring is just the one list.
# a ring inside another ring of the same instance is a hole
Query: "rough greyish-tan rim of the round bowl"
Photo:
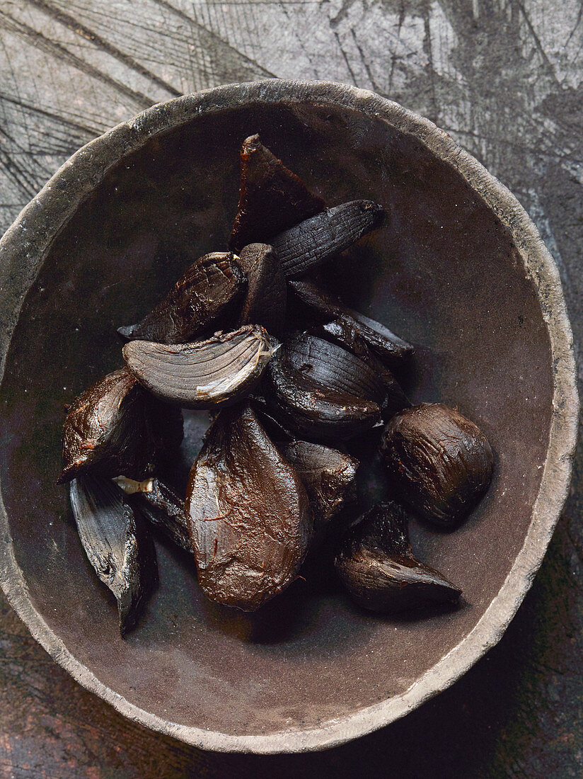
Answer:
[[[220, 752], [298, 753], [328, 749], [403, 717], [468, 671], [500, 640], [532, 584], [567, 498], [577, 441], [578, 392], [571, 325], [559, 271], [532, 220], [497, 178], [433, 122], [368, 90], [329, 81], [267, 79], [226, 84], [176, 97], [121, 122], [74, 153], [0, 240], [0, 290], [3, 291], [0, 298], [0, 382], [23, 298], [52, 241], [83, 199], [121, 157], [138, 150], [153, 136], [176, 129], [198, 115], [253, 102], [297, 104], [310, 100], [360, 111], [418, 139], [431, 153], [454, 167], [510, 231], [526, 273], [535, 284], [550, 337], [554, 393], [549, 446], [524, 544], [502, 587], [476, 626], [398, 696], [352, 714], [331, 718], [318, 726], [274, 731], [267, 735], [232, 735], [167, 721], [115, 693], [76, 660], [33, 605], [16, 562], [0, 485], [0, 584], [12, 608], [37, 642], [77, 682], [111, 703], [125, 717], [192, 746]], [[65, 190], [68, 202], [63, 207], [61, 200]]]

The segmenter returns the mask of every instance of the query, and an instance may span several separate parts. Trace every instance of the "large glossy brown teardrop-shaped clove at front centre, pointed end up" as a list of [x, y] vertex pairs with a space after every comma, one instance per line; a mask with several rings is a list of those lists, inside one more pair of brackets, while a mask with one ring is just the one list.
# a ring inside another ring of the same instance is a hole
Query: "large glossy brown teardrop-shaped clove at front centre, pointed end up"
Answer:
[[251, 612], [297, 576], [313, 517], [306, 490], [248, 404], [220, 411], [188, 480], [198, 582]]

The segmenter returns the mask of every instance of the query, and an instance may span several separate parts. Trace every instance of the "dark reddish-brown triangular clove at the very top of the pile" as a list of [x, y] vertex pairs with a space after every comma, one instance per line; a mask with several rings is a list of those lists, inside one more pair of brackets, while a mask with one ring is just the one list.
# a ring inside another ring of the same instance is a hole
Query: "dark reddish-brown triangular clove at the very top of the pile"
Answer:
[[304, 182], [265, 148], [259, 136], [241, 147], [241, 191], [229, 245], [235, 252], [255, 241], [267, 241], [326, 207]]

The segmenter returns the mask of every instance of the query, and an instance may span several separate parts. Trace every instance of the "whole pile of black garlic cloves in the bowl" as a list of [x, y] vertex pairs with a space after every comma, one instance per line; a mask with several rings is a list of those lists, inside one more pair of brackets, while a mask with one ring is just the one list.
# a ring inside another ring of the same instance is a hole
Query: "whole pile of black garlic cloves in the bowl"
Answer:
[[[245, 612], [322, 546], [363, 608], [458, 601], [413, 554], [409, 516], [462, 522], [490, 483], [490, 445], [458, 411], [412, 406], [392, 371], [413, 347], [314, 280], [384, 218], [368, 200], [328, 208], [249, 137], [230, 251], [198, 259], [142, 322], [120, 327], [125, 367], [68, 407], [59, 482], [71, 482], [122, 635], [158, 582], [150, 523], [194, 556], [209, 598]], [[181, 408], [212, 415], [185, 499], [160, 478], [181, 446]], [[350, 441], [367, 435], [391, 500], [359, 517]]]

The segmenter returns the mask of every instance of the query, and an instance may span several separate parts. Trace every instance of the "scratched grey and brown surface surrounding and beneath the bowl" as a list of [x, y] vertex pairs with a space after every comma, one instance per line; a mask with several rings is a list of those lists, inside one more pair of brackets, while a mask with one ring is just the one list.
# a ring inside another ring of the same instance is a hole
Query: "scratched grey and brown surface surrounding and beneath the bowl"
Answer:
[[[581, 0], [0, 0], [0, 231], [142, 108], [220, 83], [333, 79], [447, 130], [515, 192], [583, 331]], [[581, 368], [580, 368], [581, 371]], [[581, 777], [583, 487], [500, 644], [371, 736], [305, 756], [202, 753], [76, 685], [0, 598], [0, 777]]]

